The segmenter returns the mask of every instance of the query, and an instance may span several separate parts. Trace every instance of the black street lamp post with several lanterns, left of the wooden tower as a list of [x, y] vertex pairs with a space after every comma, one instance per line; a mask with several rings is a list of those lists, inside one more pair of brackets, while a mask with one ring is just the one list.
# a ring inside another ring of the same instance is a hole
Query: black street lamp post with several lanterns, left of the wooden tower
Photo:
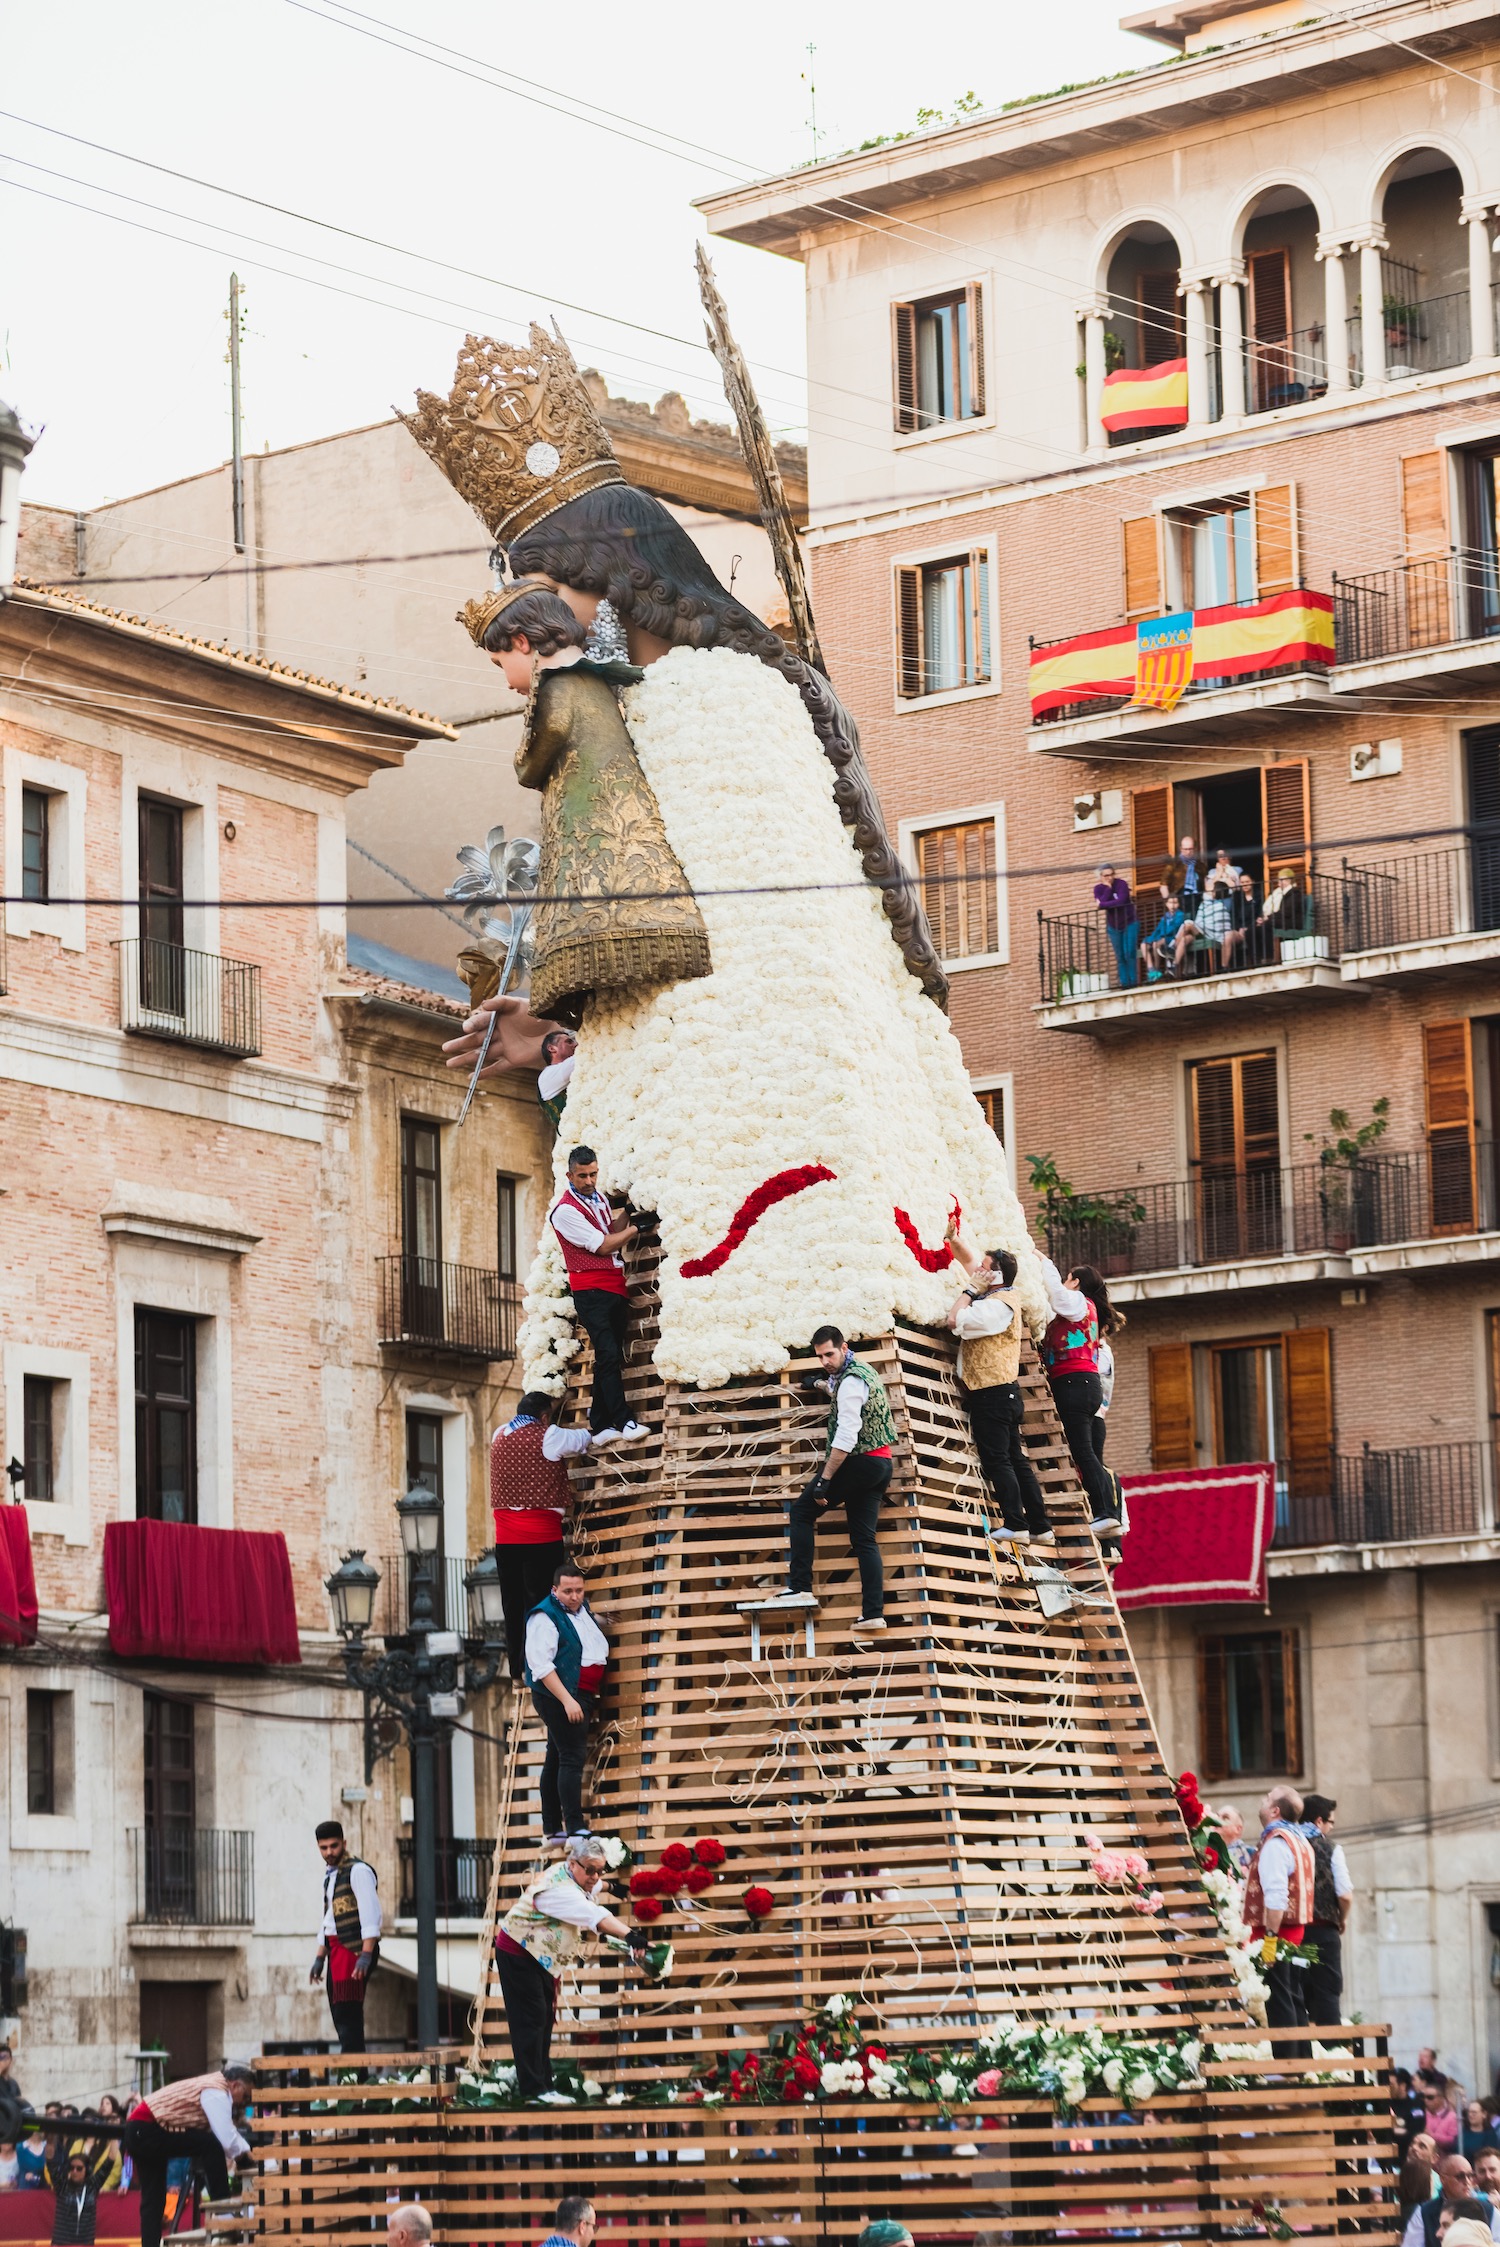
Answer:
[[433, 1577], [442, 1537], [436, 1490], [415, 1485], [397, 1499], [402, 1553], [411, 1564], [411, 1616], [386, 1652], [366, 1652], [375, 1618], [379, 1571], [364, 1553], [346, 1553], [326, 1589], [344, 1640], [344, 1672], [366, 1699], [379, 1701], [402, 1723], [411, 1750], [411, 1856], [418, 1908], [418, 2045], [438, 2043], [438, 1789], [436, 1755], [447, 1728], [463, 1714], [465, 1694], [483, 1692], [501, 1674], [505, 1611], [494, 1553], [465, 1575], [469, 1636], [438, 1629]]

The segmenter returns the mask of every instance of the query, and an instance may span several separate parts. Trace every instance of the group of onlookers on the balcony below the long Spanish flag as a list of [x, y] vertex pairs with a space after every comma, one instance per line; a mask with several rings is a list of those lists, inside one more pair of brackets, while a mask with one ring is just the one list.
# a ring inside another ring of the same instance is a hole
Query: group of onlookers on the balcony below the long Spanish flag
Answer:
[[1192, 836], [1183, 836], [1150, 897], [1132, 890], [1112, 865], [1100, 865], [1096, 874], [1094, 903], [1105, 917], [1121, 991], [1141, 982], [1269, 966], [1287, 937], [1311, 935], [1311, 899], [1300, 863], [1273, 867], [1271, 885], [1262, 890], [1228, 849], [1204, 865]]

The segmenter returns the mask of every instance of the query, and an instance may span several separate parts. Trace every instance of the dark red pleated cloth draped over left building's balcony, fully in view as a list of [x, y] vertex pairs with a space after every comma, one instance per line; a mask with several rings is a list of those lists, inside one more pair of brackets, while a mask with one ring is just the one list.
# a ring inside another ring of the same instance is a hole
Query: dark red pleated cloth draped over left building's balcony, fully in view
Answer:
[[115, 1654], [164, 1654], [180, 1663], [301, 1661], [281, 1530], [110, 1521], [103, 1591]]

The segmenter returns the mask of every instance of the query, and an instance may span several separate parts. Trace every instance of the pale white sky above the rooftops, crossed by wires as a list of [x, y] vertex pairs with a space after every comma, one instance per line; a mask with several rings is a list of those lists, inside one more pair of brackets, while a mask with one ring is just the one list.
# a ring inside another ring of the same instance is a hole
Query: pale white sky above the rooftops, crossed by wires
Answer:
[[[337, 0], [9, 11], [0, 395], [45, 422], [27, 499], [90, 508], [227, 456], [231, 265], [247, 285], [247, 449], [377, 420], [418, 384], [447, 389], [465, 328], [514, 337], [555, 306], [579, 364], [600, 366], [611, 389], [656, 398], [676, 386], [696, 413], [728, 420], [712, 360], [694, 348], [701, 220], [689, 198], [811, 155], [808, 40], [824, 153], [912, 126], [918, 106], [948, 110], [968, 88], [995, 106], [1165, 56], [1118, 31], [1123, 0], [930, 7], [918, 36], [891, 0], [763, 0], [685, 9], [669, 40], [653, 36], [660, 11], [635, 20], [602, 0], [359, 4], [359, 16]], [[507, 36], [516, 25], [521, 43]], [[418, 29], [458, 67], [382, 43]], [[539, 106], [546, 97], [476, 83], [463, 74], [474, 56], [566, 88], [624, 133], [640, 119], [714, 153], [667, 155], [557, 115]], [[339, 240], [36, 126], [420, 256]], [[135, 225], [92, 216], [103, 209]], [[431, 258], [483, 279], [436, 272]], [[799, 431], [802, 267], [732, 243], [714, 245], [714, 265], [772, 427]]]

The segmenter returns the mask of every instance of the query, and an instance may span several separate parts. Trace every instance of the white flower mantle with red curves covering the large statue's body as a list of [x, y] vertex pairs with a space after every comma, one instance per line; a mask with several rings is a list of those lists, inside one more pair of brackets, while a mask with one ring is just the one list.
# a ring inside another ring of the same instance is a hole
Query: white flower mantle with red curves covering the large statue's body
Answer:
[[[658, 1371], [714, 1389], [777, 1371], [824, 1321], [847, 1335], [898, 1317], [939, 1326], [948, 1272], [914, 1258], [891, 1211], [934, 1240], [954, 1195], [977, 1240], [1015, 1252], [1040, 1332], [1046, 1297], [1004, 1148], [952, 1027], [860, 881], [797, 690], [754, 656], [674, 647], [626, 692], [626, 719], [714, 971], [591, 1002], [568, 1139], [600, 1150], [606, 1189], [660, 1213]], [[728, 1270], [685, 1276], [763, 1182], [806, 1168], [835, 1175], [763, 1209]], [[566, 1270], [543, 1227], [521, 1326], [525, 1386], [557, 1395], [575, 1353]]]

